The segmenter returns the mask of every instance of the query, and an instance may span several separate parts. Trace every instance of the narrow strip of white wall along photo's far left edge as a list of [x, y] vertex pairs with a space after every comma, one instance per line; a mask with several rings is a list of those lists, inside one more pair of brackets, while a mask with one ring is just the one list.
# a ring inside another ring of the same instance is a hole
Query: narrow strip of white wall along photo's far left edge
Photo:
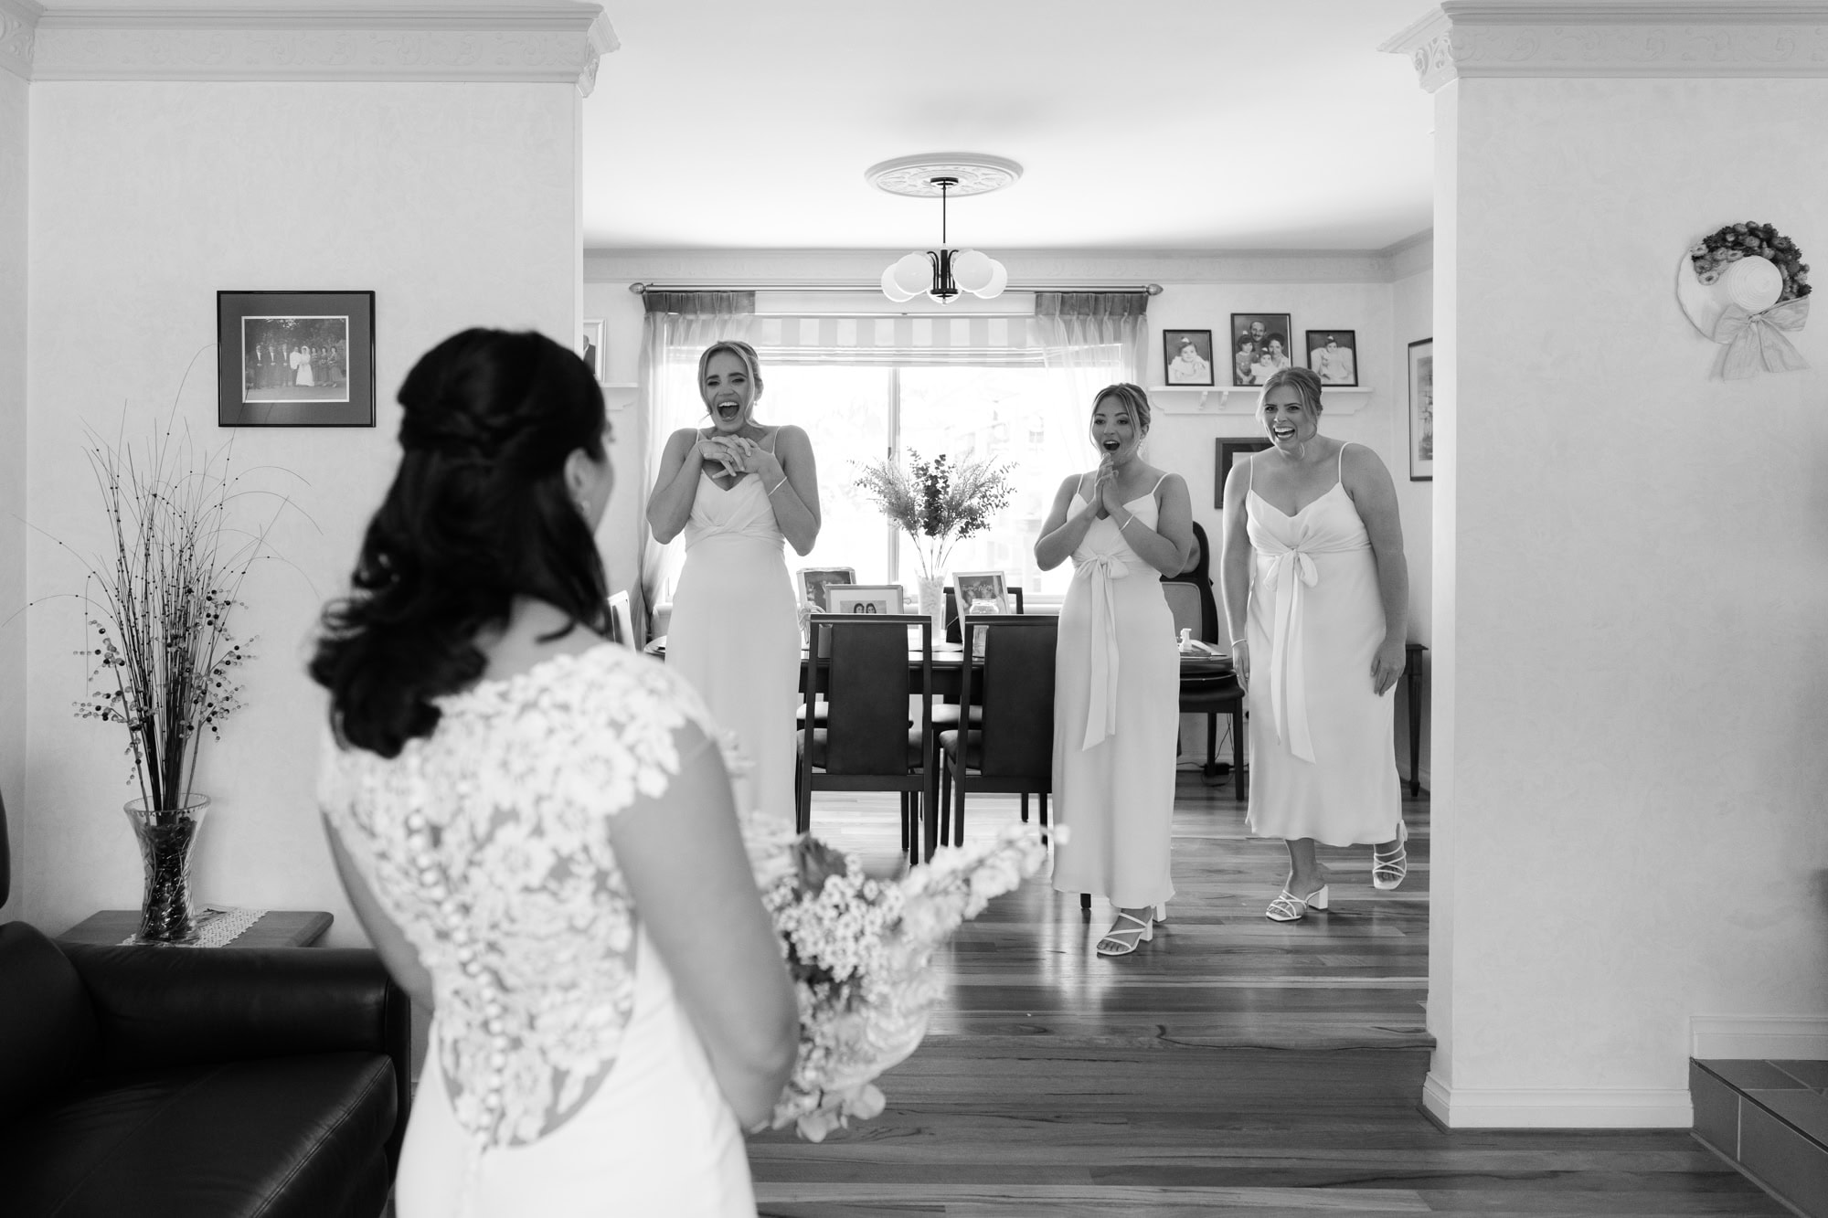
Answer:
[[29, 86], [0, 68], [0, 801], [22, 856], [26, 777], [26, 146]]

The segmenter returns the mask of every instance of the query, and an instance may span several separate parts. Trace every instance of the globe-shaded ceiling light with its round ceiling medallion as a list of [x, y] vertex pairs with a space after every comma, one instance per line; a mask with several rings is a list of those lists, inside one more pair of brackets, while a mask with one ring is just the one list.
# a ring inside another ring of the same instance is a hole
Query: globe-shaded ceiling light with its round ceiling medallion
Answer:
[[983, 300], [1000, 296], [1009, 285], [1004, 263], [976, 249], [947, 245], [947, 203], [954, 194], [989, 194], [1022, 176], [1022, 166], [1004, 157], [943, 154], [899, 157], [872, 165], [865, 177], [890, 194], [910, 198], [940, 196], [940, 249], [914, 251], [883, 271], [883, 294], [894, 302], [927, 293], [940, 304], [952, 304], [960, 293]]

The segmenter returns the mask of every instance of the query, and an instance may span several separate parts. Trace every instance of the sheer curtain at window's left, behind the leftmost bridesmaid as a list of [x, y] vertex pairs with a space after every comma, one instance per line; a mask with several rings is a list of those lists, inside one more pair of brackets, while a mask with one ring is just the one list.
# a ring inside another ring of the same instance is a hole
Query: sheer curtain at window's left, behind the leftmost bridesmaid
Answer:
[[651, 620], [653, 607], [671, 598], [673, 580], [684, 563], [684, 545], [654, 541], [647, 529], [647, 496], [660, 472], [660, 454], [678, 428], [698, 426], [704, 399], [698, 397], [698, 355], [724, 338], [749, 338], [755, 322], [755, 293], [654, 293], [642, 296], [647, 316], [642, 322], [640, 410], [647, 428], [642, 466], [642, 497], [634, 514], [636, 554], [642, 580], [631, 600], [636, 620]]

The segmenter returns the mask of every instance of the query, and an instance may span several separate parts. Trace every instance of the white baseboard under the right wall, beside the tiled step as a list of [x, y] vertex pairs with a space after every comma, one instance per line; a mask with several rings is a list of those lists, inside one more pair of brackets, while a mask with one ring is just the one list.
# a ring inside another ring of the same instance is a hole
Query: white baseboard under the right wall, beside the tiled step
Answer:
[[1695, 1105], [1678, 1086], [1448, 1086], [1433, 1072], [1422, 1106], [1448, 1128], [1691, 1128]]

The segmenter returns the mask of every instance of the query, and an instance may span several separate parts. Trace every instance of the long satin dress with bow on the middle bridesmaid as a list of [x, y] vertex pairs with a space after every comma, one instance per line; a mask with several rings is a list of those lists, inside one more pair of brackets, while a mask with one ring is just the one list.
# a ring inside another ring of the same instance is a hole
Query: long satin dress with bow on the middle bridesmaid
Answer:
[[[1150, 529], [1159, 486], [1124, 505]], [[1080, 479], [1075, 512], [1088, 503], [1084, 490]], [[1053, 852], [1053, 887], [1106, 896], [1119, 909], [1159, 905], [1174, 896], [1181, 655], [1157, 571], [1108, 516], [1073, 550], [1053, 671], [1055, 823], [1068, 828]]]

